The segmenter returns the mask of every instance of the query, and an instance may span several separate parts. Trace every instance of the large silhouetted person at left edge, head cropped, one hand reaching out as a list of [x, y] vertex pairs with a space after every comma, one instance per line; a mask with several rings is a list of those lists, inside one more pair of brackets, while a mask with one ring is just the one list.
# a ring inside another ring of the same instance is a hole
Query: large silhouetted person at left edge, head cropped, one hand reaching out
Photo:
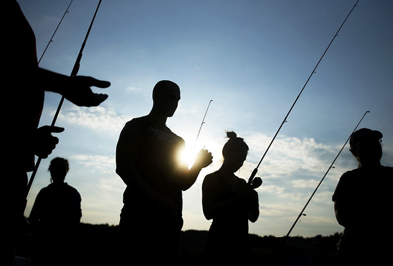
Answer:
[[[91, 77], [70, 78], [38, 67], [35, 36], [19, 4], [15, 0], [2, 1], [4, 11], [2, 37], [3, 45], [3, 89], [2, 123], [3, 169], [11, 169], [12, 175], [3, 178], [8, 195], [4, 201], [5, 227], [1, 242], [4, 253], [1, 260], [12, 265], [15, 253], [15, 239], [24, 221], [27, 195], [27, 173], [34, 168], [34, 155], [47, 158], [55, 148], [58, 139], [51, 133], [64, 129], [44, 126], [39, 129], [44, 91], [63, 95], [77, 106], [98, 106], [107, 99], [106, 94], [96, 94], [90, 86], [108, 87], [110, 82]], [[5, 21], [6, 20], [6, 21]], [[5, 257], [3, 257], [5, 256]]]

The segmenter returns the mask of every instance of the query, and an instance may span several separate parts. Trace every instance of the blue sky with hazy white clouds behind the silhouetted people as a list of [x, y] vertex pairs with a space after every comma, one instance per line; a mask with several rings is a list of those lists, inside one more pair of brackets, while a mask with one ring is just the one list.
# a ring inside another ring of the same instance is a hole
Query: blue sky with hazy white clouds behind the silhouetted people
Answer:
[[[82, 196], [83, 222], [118, 224], [124, 183], [115, 173], [115, 147], [124, 124], [146, 115], [159, 80], [181, 89], [167, 126], [213, 163], [183, 193], [183, 230], [208, 230], [201, 184], [219, 169], [225, 130], [250, 147], [235, 173], [248, 179], [290, 106], [355, 0], [103, 0], [84, 48], [79, 75], [111, 81], [98, 107], [65, 101], [56, 150], [43, 160], [28, 198], [49, 184], [51, 159], [70, 161], [66, 182]], [[18, 0], [34, 30], [38, 57], [69, 0]], [[40, 66], [69, 75], [98, 0], [74, 0]], [[382, 164], [393, 165], [393, 1], [360, 0], [321, 61], [259, 167], [260, 216], [250, 233], [285, 235], [341, 146], [359, 128], [379, 130]], [[46, 93], [40, 125], [51, 123], [60, 96]], [[332, 194], [345, 171], [357, 167], [343, 150], [292, 235], [342, 232]], [[370, 180], [372, 182], [372, 180]], [[365, 187], [367, 184], [365, 184]], [[157, 222], [160, 217], [157, 217]]]

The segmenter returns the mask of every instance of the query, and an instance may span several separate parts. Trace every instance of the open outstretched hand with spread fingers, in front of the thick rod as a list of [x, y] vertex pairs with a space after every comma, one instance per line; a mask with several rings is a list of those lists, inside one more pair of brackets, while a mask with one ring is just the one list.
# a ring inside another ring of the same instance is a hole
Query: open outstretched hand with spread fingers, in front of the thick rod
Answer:
[[98, 106], [107, 98], [107, 94], [94, 93], [91, 86], [107, 88], [111, 82], [97, 80], [87, 76], [75, 76], [70, 78], [68, 87], [61, 93], [65, 99], [77, 106]]

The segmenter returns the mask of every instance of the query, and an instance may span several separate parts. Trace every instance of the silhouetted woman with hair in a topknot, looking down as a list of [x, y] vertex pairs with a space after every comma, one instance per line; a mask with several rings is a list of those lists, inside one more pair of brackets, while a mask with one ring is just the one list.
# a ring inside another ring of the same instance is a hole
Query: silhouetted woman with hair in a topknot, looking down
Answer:
[[206, 263], [245, 263], [251, 252], [248, 221], [259, 216], [258, 193], [233, 173], [242, 167], [249, 147], [243, 138], [227, 132], [221, 168], [208, 174], [202, 185], [202, 207], [206, 219], [213, 219], [204, 245]]

